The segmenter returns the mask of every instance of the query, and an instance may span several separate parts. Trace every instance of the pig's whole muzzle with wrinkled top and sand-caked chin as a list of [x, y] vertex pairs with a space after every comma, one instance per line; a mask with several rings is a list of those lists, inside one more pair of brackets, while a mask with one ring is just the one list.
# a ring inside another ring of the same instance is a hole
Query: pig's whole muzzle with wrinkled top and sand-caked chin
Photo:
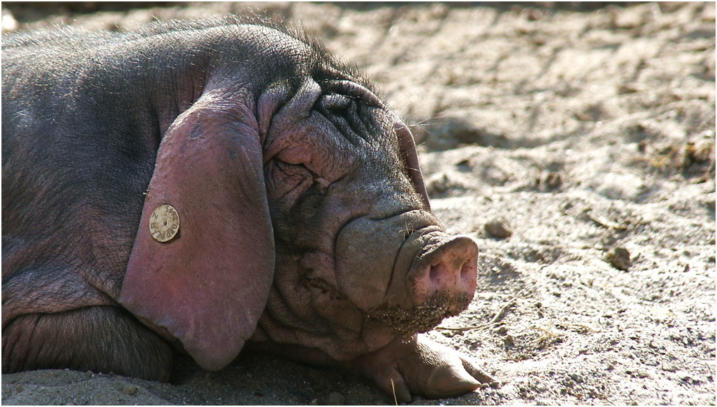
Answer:
[[404, 334], [425, 332], [473, 300], [478, 245], [447, 235], [429, 212], [362, 217], [336, 241], [336, 280], [373, 320]]

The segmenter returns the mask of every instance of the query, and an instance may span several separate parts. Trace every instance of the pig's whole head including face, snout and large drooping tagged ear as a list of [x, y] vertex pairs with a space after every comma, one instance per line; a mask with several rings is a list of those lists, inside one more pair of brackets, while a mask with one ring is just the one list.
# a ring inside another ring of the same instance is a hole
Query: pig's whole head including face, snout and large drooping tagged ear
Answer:
[[209, 369], [249, 338], [348, 360], [460, 313], [478, 247], [430, 212], [409, 129], [352, 69], [257, 30], [282, 45], [215, 64], [166, 130], [120, 303]]

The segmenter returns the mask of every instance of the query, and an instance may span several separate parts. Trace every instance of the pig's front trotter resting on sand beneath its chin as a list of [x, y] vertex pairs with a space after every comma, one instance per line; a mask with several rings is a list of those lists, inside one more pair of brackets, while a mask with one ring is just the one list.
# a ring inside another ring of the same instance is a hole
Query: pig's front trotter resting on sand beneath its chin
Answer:
[[478, 368], [477, 361], [424, 335], [414, 335], [409, 342], [398, 338], [348, 364], [389, 394], [395, 391], [397, 400], [405, 403], [412, 395], [460, 396], [474, 391], [480, 383], [493, 381]]

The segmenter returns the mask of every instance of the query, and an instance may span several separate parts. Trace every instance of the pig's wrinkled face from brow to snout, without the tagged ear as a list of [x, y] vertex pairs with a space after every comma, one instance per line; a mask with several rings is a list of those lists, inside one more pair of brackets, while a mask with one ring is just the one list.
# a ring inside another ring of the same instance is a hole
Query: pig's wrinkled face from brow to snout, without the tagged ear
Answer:
[[431, 214], [412, 135], [369, 89], [310, 82], [273, 123], [265, 179], [277, 265], [265, 335], [351, 358], [465, 309], [478, 247]]

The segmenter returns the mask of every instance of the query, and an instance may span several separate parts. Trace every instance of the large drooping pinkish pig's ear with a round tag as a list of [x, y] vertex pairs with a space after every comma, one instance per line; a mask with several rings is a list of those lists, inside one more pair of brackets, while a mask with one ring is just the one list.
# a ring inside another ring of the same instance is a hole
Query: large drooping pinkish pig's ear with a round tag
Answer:
[[[200, 99], [159, 146], [119, 302], [208, 370], [254, 332], [274, 272], [250, 109]], [[170, 338], [171, 339], [171, 338]]]

